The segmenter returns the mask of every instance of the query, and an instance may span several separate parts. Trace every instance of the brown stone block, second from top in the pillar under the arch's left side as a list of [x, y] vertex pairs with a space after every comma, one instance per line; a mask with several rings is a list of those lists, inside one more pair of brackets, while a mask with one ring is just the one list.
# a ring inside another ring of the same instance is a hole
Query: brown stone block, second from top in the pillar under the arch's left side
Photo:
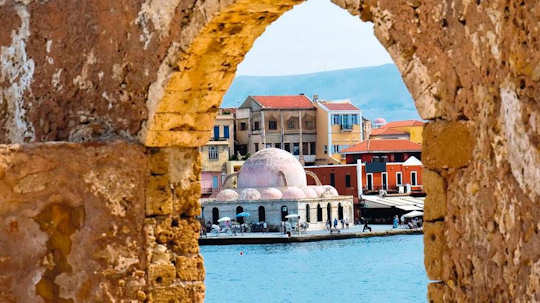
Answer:
[[150, 176], [146, 191], [146, 215], [167, 215], [172, 212], [173, 201], [169, 177]]

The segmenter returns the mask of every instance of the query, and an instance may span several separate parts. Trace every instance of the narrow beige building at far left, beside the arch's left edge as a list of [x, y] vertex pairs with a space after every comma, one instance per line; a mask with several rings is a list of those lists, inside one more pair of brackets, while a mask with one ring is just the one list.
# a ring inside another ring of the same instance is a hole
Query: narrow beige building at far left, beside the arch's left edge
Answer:
[[203, 197], [216, 194], [225, 180], [226, 163], [234, 155], [235, 109], [220, 108], [212, 137], [201, 146], [201, 191]]

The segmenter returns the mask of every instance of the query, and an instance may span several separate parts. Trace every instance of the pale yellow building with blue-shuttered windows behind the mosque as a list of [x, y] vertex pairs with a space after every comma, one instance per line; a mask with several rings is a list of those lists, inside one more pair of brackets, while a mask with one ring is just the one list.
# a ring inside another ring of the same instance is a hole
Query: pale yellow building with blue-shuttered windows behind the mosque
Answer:
[[316, 162], [318, 165], [341, 164], [344, 161], [341, 150], [364, 139], [362, 111], [350, 100], [316, 100], [314, 104], [317, 107]]

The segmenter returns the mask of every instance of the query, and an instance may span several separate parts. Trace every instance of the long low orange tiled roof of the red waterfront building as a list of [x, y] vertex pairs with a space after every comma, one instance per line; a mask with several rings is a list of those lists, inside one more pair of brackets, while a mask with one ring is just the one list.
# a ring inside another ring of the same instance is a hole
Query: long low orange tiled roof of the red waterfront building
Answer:
[[342, 151], [344, 154], [366, 154], [374, 152], [422, 151], [422, 145], [403, 139], [366, 140]]

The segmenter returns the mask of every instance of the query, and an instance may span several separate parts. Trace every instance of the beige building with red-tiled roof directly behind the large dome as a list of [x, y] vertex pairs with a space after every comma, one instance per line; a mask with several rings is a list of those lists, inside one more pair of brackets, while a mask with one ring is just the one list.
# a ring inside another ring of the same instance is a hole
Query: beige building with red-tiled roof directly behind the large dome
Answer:
[[280, 148], [302, 164], [314, 164], [316, 110], [304, 95], [248, 96], [237, 110], [238, 151], [245, 155]]

